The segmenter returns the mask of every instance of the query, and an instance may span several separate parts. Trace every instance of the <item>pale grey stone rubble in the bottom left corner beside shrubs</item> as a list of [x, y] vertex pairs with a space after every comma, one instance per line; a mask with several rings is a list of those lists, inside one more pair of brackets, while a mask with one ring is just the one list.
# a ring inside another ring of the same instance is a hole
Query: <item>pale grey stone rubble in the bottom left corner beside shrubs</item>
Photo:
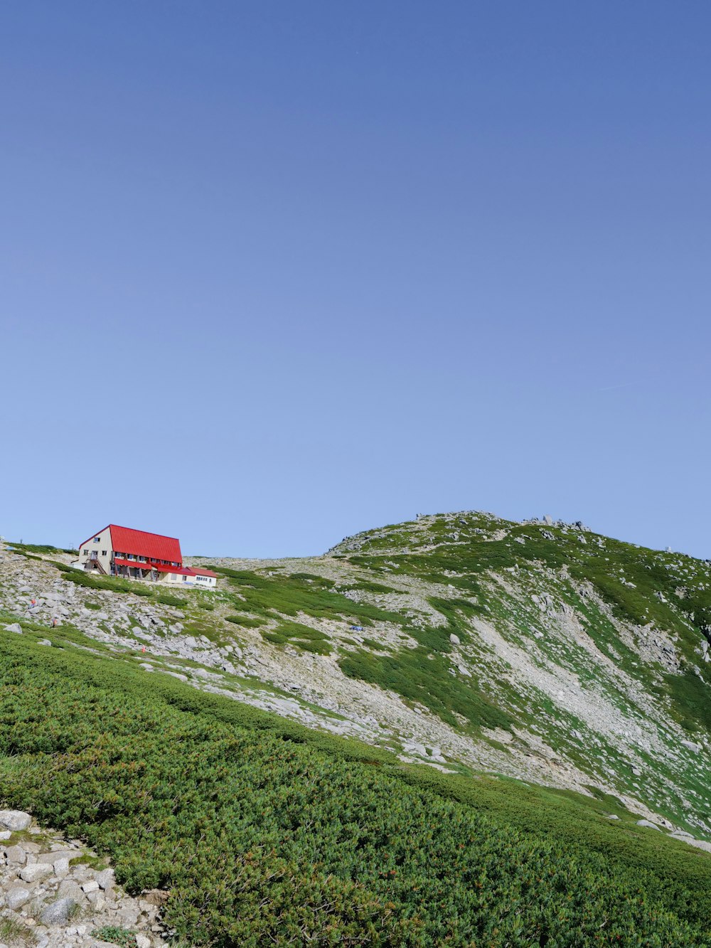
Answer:
[[40, 829], [29, 813], [0, 811], [0, 948], [104, 948], [105, 926], [160, 948], [165, 893], [127, 895], [114, 870], [78, 840]]

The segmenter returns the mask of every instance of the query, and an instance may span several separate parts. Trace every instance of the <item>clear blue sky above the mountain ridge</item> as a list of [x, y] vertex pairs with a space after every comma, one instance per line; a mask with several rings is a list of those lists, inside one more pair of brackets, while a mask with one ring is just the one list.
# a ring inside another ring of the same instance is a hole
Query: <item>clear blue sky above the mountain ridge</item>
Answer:
[[0, 16], [0, 533], [711, 556], [706, 0]]

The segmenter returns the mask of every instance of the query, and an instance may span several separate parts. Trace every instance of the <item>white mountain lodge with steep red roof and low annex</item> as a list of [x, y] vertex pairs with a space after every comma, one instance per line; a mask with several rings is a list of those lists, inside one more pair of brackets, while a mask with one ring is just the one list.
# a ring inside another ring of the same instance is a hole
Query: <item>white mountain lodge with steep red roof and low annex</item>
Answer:
[[172, 586], [210, 589], [217, 585], [217, 574], [211, 570], [183, 566], [177, 538], [118, 527], [115, 523], [109, 523], [84, 540], [75, 565], [87, 572], [148, 579]]

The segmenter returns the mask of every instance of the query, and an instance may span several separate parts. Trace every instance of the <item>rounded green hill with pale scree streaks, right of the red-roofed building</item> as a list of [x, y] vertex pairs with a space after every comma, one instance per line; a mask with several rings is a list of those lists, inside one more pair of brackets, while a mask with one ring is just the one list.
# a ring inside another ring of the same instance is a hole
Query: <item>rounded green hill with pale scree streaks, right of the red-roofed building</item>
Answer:
[[553, 762], [534, 779], [565, 785], [574, 769], [579, 789], [711, 839], [707, 562], [466, 513], [347, 538], [307, 564], [213, 565], [265, 640], [331, 654], [501, 755], [532, 757], [532, 735]]

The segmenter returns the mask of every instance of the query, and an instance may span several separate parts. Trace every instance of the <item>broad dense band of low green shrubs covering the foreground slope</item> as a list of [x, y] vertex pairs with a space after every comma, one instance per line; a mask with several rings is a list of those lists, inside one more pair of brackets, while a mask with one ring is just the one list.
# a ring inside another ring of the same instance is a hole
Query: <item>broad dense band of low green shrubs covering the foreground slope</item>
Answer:
[[[711, 948], [704, 853], [596, 816], [572, 836], [560, 796], [537, 830], [513, 784], [422, 775], [116, 659], [0, 636], [1, 802], [109, 854], [130, 890], [170, 889], [165, 921], [192, 945]], [[481, 809], [509, 796], [527, 827]]]

